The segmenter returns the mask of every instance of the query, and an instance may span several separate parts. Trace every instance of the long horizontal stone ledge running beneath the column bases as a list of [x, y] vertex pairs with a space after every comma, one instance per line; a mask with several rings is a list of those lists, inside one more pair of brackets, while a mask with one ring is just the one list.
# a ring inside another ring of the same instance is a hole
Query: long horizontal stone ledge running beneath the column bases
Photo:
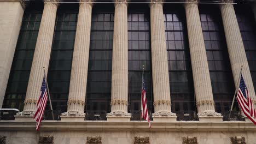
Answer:
[[[146, 121], [131, 122], [107, 122], [107, 121], [84, 121], [84, 122], [61, 122], [42, 121], [40, 131], [49, 130], [74, 130], [74, 131], [256, 131], [252, 122], [151, 122], [152, 129]], [[0, 131], [10, 130], [35, 130], [36, 122], [0, 121]]]

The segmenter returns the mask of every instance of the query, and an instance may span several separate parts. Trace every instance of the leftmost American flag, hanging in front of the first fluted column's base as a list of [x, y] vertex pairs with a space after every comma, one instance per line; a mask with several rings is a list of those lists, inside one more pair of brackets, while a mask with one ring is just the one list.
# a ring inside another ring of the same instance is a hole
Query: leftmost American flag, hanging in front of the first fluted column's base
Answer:
[[48, 100], [48, 95], [47, 95], [45, 75], [44, 75], [44, 79], [43, 79], [43, 83], [42, 83], [42, 87], [41, 87], [41, 94], [40, 94], [39, 100], [37, 102], [37, 110], [36, 110], [36, 113], [34, 114], [34, 120], [37, 121], [37, 125], [36, 125], [37, 130], [39, 129], [40, 123], [43, 119], [44, 109], [45, 109], [47, 100]]

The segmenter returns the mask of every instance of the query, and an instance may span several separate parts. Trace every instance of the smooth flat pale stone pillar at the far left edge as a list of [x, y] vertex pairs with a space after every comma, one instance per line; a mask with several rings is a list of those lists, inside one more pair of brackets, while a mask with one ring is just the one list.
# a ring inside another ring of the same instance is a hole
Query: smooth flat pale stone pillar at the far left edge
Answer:
[[24, 9], [19, 1], [0, 1], [0, 108], [7, 87]]

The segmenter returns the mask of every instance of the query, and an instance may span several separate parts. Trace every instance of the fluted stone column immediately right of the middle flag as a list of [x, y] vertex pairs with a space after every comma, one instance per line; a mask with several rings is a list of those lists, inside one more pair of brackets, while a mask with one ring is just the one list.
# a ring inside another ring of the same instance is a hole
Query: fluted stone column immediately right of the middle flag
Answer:
[[150, 31], [155, 109], [153, 118], [154, 121], [176, 121], [176, 113], [171, 112], [170, 83], [162, 1], [152, 0], [151, 2]]

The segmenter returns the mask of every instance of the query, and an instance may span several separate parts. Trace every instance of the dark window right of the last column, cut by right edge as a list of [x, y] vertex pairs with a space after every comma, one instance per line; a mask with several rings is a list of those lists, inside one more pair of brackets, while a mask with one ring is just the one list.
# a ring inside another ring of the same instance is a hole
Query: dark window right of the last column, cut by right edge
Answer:
[[246, 56], [251, 70], [254, 91], [256, 90], [256, 29], [255, 20], [251, 9], [248, 5], [237, 5], [235, 7], [236, 17], [240, 32], [242, 35], [243, 45], [245, 46]]

